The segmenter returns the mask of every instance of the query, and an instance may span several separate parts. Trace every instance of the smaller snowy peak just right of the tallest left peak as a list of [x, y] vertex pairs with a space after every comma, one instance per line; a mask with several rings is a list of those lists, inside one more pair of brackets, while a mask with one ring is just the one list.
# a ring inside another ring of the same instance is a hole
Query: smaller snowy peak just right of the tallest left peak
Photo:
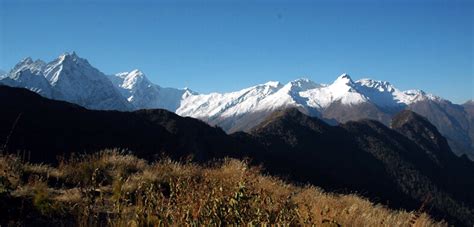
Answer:
[[145, 74], [137, 69], [117, 73], [109, 76], [109, 79], [134, 109], [161, 108], [174, 112], [183, 99], [196, 94], [187, 88], [162, 88], [150, 82]]

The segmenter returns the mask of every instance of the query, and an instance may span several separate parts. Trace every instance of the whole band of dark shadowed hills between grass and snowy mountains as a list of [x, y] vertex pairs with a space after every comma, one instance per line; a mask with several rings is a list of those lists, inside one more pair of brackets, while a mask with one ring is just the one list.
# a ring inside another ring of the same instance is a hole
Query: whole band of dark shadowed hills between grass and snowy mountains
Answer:
[[438, 220], [474, 224], [473, 162], [455, 156], [434, 126], [409, 111], [388, 128], [370, 120], [330, 126], [289, 109], [250, 133], [227, 135], [164, 110], [91, 111], [17, 88], [0, 87], [0, 105], [0, 143], [11, 133], [6, 151], [32, 162], [115, 147], [147, 160], [249, 158], [291, 182], [357, 192], [391, 208], [425, 204]]

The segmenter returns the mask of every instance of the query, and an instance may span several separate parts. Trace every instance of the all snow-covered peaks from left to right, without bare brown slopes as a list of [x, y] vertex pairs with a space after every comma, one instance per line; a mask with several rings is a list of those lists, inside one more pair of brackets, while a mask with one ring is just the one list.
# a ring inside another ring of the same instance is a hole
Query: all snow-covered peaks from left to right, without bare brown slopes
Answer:
[[323, 110], [336, 102], [398, 108], [421, 100], [440, 99], [421, 90], [400, 91], [384, 81], [353, 81], [347, 74], [329, 85], [297, 79], [287, 84], [270, 81], [236, 92], [198, 94], [187, 88], [162, 88], [137, 69], [107, 76], [74, 52], [62, 54], [49, 63], [25, 58], [1, 83], [91, 109], [163, 108], [197, 118], [238, 116], [286, 106]]

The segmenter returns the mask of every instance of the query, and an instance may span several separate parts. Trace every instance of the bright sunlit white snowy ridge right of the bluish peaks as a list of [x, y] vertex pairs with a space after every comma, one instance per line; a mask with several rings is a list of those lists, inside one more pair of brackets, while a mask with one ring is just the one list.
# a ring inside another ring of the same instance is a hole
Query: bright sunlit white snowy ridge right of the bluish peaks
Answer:
[[176, 113], [197, 118], [235, 117], [287, 106], [321, 111], [338, 102], [346, 106], [372, 103], [400, 108], [426, 99], [440, 98], [421, 90], [400, 91], [383, 81], [353, 81], [349, 75], [342, 74], [330, 85], [298, 79], [287, 84], [271, 81], [224, 94], [193, 95], [182, 100]]

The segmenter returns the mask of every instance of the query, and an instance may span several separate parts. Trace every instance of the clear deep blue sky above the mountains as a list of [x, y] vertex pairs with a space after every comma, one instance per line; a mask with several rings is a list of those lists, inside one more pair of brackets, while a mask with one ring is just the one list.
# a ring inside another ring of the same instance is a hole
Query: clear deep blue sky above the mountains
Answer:
[[75, 50], [203, 93], [347, 72], [474, 98], [474, 1], [355, 2], [0, 0], [0, 69]]

